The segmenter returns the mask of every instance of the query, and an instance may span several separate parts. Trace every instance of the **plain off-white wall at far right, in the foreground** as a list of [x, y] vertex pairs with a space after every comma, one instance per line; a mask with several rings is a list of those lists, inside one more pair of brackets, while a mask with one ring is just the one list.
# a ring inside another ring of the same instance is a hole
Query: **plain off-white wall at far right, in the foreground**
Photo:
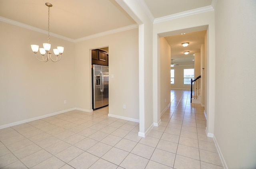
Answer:
[[256, 168], [256, 1], [216, 6], [214, 136], [229, 169]]

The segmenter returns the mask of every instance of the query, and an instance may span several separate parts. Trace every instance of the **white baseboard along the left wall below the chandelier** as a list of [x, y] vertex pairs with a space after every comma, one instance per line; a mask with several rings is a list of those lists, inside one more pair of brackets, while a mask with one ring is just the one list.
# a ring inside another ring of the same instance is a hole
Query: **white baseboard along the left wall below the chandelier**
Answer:
[[70, 108], [70, 109], [66, 109], [66, 110], [61, 110], [59, 112], [54, 112], [54, 113], [46, 114], [46, 115], [43, 115], [43, 116], [38, 116], [38, 117], [34, 117], [34, 118], [29, 118], [29, 119], [26, 119], [26, 120], [21, 120], [21, 121], [18, 121], [18, 122], [4, 124], [4, 125], [0, 126], [0, 129], [8, 128], [8, 127], [11, 127], [11, 126], [16, 126], [18, 124], [22, 124], [22, 123], [26, 123], [26, 122], [31, 122], [31, 121], [34, 121], [34, 120], [39, 120], [41, 118], [46, 118], [46, 117], [54, 116], [56, 114], [61, 114], [61, 113], [69, 112], [69, 111], [72, 111], [72, 110], [76, 110], [76, 108]]

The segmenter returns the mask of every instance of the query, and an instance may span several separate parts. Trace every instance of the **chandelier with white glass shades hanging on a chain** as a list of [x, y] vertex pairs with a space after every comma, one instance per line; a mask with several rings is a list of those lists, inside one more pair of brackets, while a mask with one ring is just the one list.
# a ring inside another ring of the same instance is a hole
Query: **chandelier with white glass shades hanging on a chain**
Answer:
[[[45, 3], [45, 5], [48, 6], [48, 39], [47, 39], [48, 43], [43, 43], [44, 48], [39, 48], [38, 45], [31, 45], [31, 49], [35, 53], [35, 57], [38, 61], [47, 62], [49, 59], [51, 59], [53, 62], [57, 62], [61, 59], [61, 55], [64, 51], [64, 47], [57, 46], [57, 49], [53, 49], [53, 52], [54, 52], [54, 55], [56, 56], [56, 59], [55, 60], [52, 59], [52, 53], [50, 52], [51, 44], [49, 43], [50, 42], [50, 7], [52, 7], [52, 4]], [[40, 54], [42, 55], [42, 59], [38, 59], [38, 57], [36, 56], [36, 53], [38, 52], [38, 49], [40, 51]], [[46, 57], [44, 57], [45, 54], [46, 54]]]

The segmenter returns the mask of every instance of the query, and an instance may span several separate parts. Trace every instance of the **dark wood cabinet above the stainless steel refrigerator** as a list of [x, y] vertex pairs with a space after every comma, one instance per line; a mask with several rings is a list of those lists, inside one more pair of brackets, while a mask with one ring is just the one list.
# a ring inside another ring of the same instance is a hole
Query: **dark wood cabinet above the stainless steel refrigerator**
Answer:
[[108, 66], [108, 54], [100, 49], [92, 50], [92, 65]]

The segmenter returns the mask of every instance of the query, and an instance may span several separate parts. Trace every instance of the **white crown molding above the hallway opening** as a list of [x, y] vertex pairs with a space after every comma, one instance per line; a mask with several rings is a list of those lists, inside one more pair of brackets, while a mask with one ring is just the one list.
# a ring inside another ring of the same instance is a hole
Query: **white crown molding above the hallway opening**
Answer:
[[182, 17], [185, 17], [185, 16], [194, 15], [194, 14], [200, 14], [200, 13], [203, 13], [203, 12], [209, 12], [209, 11], [213, 11], [213, 10], [214, 10], [214, 8], [212, 8], [212, 6], [205, 6], [205, 7], [197, 8], [197, 9], [194, 9], [194, 10], [188, 10], [188, 11], [185, 11], [185, 12], [180, 12], [180, 13], [177, 13], [177, 14], [172, 14], [172, 15], [156, 18], [154, 20], [154, 24], [157, 24], [157, 23], [160, 23], [160, 22], [165, 22], [165, 21], [168, 21], [168, 20], [173, 20], [173, 19], [176, 19], [176, 18], [182, 18]]

